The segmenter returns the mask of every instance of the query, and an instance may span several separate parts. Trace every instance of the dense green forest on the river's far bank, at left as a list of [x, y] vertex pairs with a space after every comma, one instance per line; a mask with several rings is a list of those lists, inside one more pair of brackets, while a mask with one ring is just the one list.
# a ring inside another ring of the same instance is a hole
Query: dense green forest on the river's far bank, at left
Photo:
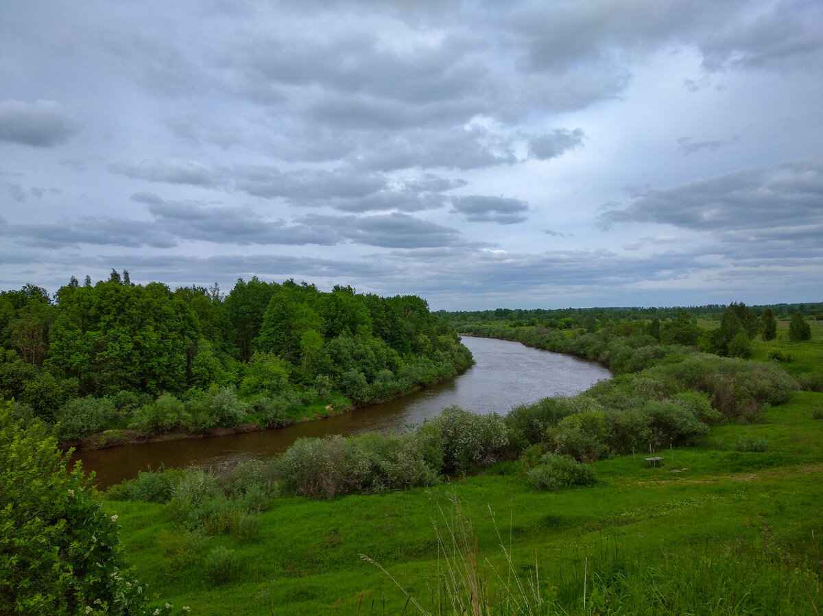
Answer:
[[0, 292], [0, 398], [60, 423], [109, 428], [277, 426], [388, 399], [463, 371], [471, 353], [417, 296], [293, 280], [219, 287], [76, 278]]

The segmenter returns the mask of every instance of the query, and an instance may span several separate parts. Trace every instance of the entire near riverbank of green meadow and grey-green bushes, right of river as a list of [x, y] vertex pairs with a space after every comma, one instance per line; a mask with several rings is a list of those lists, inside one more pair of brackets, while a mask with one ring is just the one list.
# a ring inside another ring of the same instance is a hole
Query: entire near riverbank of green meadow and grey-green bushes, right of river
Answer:
[[616, 377], [232, 469], [147, 471], [103, 506], [150, 600], [199, 614], [819, 615], [823, 321], [801, 313], [796, 339], [798, 310], [772, 307], [774, 335], [737, 304], [560, 328], [440, 313]]

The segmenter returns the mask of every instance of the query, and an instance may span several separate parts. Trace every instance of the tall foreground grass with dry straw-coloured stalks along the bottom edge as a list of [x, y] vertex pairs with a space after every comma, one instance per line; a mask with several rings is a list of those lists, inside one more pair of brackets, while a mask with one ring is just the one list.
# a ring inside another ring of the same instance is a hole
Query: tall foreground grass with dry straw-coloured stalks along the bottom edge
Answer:
[[[502, 564], [482, 556], [472, 520], [458, 500], [449, 511], [438, 505], [435, 521], [438, 558], [436, 588], [429, 606], [374, 559], [370, 562], [398, 586], [409, 605], [424, 616], [548, 616], [548, 614], [795, 614], [820, 616], [821, 576], [811, 563], [797, 562], [765, 518], [759, 536], [731, 540], [705, 538], [688, 549], [666, 544], [627, 544], [616, 534], [601, 535], [576, 553], [571, 567], [547, 567], [542, 580], [535, 553], [533, 570], [514, 562], [512, 538], [494, 525]], [[528, 575], [522, 570], [527, 568]], [[360, 603], [358, 603], [358, 614]]]

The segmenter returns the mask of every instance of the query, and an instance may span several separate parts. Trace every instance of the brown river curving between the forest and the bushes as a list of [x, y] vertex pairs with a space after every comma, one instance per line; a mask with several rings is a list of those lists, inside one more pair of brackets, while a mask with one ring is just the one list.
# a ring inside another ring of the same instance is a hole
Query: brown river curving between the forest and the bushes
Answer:
[[82, 460], [86, 471], [95, 471], [95, 483], [102, 489], [137, 477], [137, 471], [149, 467], [219, 466], [249, 457], [271, 457], [300, 436], [401, 432], [453, 404], [475, 413], [505, 414], [515, 406], [548, 396], [579, 394], [598, 380], [611, 378], [611, 372], [596, 363], [521, 343], [464, 336], [463, 344], [472, 351], [474, 366], [454, 380], [402, 399], [275, 430], [84, 450], [75, 452], [72, 459]]

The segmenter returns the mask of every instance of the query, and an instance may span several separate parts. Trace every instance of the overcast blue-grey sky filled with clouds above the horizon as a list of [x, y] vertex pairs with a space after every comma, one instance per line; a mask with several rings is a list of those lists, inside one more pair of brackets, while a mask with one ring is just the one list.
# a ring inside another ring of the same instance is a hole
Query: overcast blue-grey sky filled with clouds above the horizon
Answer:
[[823, 301], [821, 0], [3, 0], [0, 290]]

